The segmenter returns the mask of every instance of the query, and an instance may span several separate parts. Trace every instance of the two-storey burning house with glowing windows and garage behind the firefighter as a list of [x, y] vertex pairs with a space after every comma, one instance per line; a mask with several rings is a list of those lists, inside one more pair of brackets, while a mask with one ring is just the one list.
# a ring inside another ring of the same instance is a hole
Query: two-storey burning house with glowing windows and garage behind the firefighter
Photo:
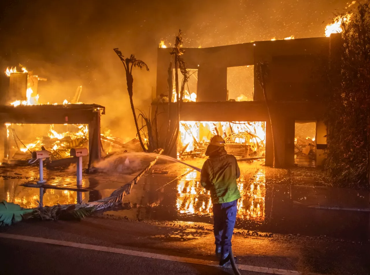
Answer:
[[[330, 60], [337, 57], [341, 43], [340, 34], [332, 34], [185, 48], [182, 57], [191, 77], [172, 155], [202, 155], [211, 136], [219, 134], [225, 138], [228, 152], [242, 158], [265, 157], [268, 166], [294, 165], [299, 154], [310, 156], [316, 165], [322, 164], [326, 126], [317, 73], [323, 62], [330, 65]], [[168, 94], [168, 86], [173, 83], [168, 77], [171, 51], [158, 48], [157, 98]], [[261, 61], [268, 64], [267, 98], [258, 81]], [[158, 109], [163, 110], [158, 115], [158, 139], [163, 144], [168, 119], [175, 120], [176, 114], [168, 114], [168, 103], [153, 100], [152, 105], [161, 105]], [[312, 128], [309, 133], [303, 131], [305, 127], [298, 129], [302, 123], [313, 123], [313, 133]]]

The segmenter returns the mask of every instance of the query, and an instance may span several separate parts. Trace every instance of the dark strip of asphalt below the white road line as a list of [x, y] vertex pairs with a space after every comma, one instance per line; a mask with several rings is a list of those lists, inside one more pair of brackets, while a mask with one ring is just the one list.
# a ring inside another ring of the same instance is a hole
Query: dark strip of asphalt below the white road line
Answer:
[[[2, 275], [17, 274], [233, 274], [231, 269], [186, 264], [36, 242], [1, 239]], [[241, 271], [243, 275], [259, 275]]]

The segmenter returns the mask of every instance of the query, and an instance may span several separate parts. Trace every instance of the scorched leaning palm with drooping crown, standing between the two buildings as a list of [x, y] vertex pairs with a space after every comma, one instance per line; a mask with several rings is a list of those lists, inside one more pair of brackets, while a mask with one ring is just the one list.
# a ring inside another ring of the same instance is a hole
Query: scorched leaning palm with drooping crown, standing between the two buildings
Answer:
[[140, 129], [139, 129], [139, 125], [138, 125], [138, 120], [137, 120], [137, 116], [136, 116], [136, 113], [135, 113], [134, 102], [132, 100], [132, 83], [134, 83], [134, 78], [132, 77], [132, 68], [134, 68], [134, 67], [138, 67], [140, 69], [145, 68], [147, 71], [149, 71], [149, 68], [148, 68], [147, 64], [145, 64], [144, 61], [136, 59], [134, 54], [131, 54], [129, 58], [128, 57], [125, 58], [122, 55], [122, 52], [118, 48], [114, 48], [113, 50], [118, 55], [118, 57], [122, 61], [122, 64], [125, 67], [127, 91], [128, 91], [128, 96], [130, 98], [130, 105], [131, 105], [132, 115], [134, 115], [135, 127], [136, 127], [136, 131], [137, 131], [137, 135], [138, 135], [140, 145], [141, 145], [142, 149], [144, 150], [144, 152], [146, 152], [147, 149], [145, 148], [145, 145], [142, 142]]

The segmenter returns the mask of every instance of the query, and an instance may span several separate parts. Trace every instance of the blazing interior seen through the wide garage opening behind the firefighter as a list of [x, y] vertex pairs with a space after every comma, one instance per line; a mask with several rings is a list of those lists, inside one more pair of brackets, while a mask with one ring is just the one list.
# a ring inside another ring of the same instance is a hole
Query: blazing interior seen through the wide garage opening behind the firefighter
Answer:
[[214, 135], [225, 139], [225, 149], [237, 157], [265, 156], [265, 122], [180, 121], [177, 156], [204, 156]]

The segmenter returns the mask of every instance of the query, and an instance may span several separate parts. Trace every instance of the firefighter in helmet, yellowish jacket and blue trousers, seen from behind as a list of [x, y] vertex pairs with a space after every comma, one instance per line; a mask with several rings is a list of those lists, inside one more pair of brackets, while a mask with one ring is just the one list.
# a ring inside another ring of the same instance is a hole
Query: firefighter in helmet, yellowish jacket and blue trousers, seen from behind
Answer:
[[220, 265], [225, 265], [229, 261], [237, 202], [240, 198], [236, 184], [240, 170], [236, 158], [226, 153], [225, 141], [219, 135], [211, 138], [205, 155], [209, 158], [202, 167], [201, 184], [211, 191], [216, 255], [220, 258]]

